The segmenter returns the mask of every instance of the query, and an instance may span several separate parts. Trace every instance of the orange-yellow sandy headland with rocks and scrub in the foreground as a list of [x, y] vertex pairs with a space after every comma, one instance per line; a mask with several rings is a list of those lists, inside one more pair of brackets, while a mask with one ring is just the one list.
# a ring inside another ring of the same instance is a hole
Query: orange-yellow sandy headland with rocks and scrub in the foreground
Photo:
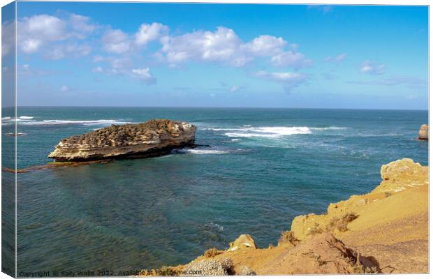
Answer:
[[139, 276], [428, 272], [428, 167], [404, 158], [381, 167], [372, 192], [294, 218], [277, 246], [257, 248], [242, 234], [189, 264]]

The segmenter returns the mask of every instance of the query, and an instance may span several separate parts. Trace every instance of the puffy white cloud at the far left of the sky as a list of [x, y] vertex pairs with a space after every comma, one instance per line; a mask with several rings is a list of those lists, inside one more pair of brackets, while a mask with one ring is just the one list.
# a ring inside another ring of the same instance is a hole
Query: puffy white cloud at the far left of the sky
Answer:
[[[25, 54], [34, 54], [43, 48], [49, 51], [54, 49], [56, 54], [46, 55], [54, 59], [63, 58], [67, 53], [75, 55], [75, 51], [87, 55], [90, 52], [89, 46], [79, 46], [78, 43], [53, 44], [74, 39], [82, 40], [95, 29], [96, 25], [91, 24], [90, 18], [82, 15], [68, 14], [64, 18], [52, 15], [24, 17], [17, 21], [17, 47]], [[47, 45], [51, 47], [46, 47]]]

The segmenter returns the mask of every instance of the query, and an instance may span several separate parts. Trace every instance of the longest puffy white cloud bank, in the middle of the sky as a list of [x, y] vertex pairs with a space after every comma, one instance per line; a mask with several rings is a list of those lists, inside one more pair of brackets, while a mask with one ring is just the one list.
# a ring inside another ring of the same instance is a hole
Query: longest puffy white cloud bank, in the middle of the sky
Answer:
[[233, 29], [218, 27], [216, 31], [194, 31], [180, 36], [161, 38], [161, 56], [172, 65], [185, 61], [212, 61], [228, 66], [244, 66], [256, 57], [268, 56], [274, 66], [302, 68], [312, 61], [281, 37], [261, 35], [242, 42]]

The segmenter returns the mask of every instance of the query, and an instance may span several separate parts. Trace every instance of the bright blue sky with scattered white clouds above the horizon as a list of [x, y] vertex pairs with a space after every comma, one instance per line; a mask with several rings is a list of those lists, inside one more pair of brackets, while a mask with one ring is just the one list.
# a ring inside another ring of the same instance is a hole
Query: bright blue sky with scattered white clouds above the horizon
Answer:
[[426, 110], [427, 24], [427, 6], [17, 2], [17, 102]]

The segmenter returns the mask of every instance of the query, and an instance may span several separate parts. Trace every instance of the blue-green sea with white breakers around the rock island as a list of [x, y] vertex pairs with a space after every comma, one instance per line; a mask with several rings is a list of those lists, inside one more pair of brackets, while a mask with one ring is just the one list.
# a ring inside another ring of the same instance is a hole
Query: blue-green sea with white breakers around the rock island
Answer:
[[18, 174], [18, 272], [183, 264], [240, 234], [267, 247], [293, 217], [375, 188], [381, 165], [404, 157], [427, 165], [428, 144], [415, 140], [427, 111], [19, 107], [17, 115], [20, 168], [49, 162], [61, 138], [152, 118], [189, 121], [196, 143], [210, 145]]

